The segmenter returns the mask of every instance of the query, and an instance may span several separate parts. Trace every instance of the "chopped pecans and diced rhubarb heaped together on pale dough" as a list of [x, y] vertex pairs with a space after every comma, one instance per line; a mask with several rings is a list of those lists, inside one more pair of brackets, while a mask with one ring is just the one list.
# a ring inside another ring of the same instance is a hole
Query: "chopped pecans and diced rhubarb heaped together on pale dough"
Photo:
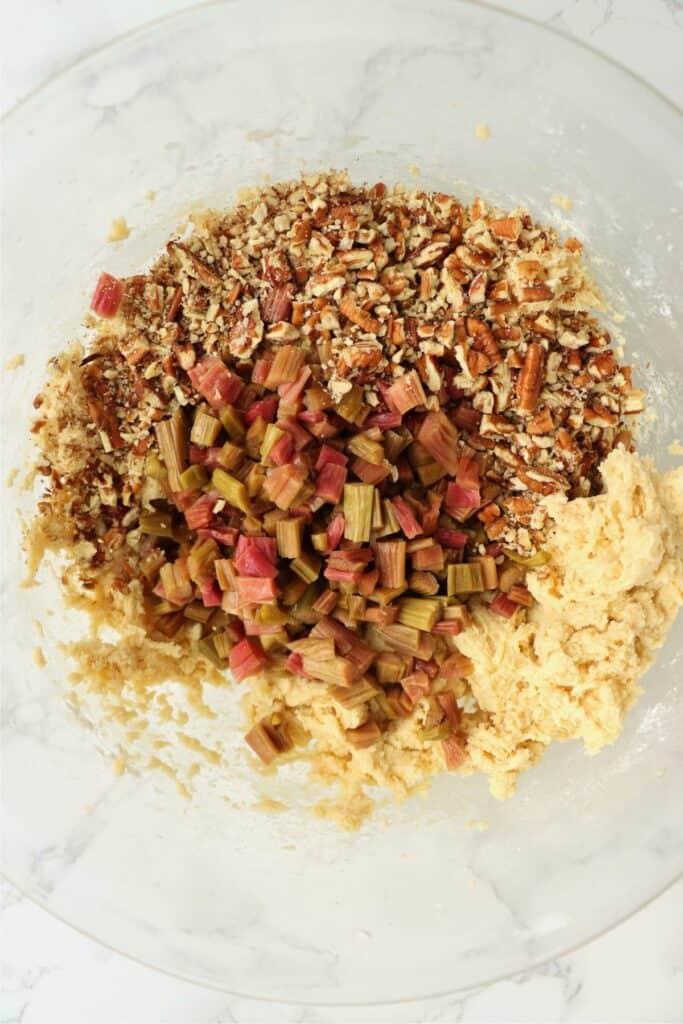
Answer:
[[[44, 507], [94, 545], [83, 579], [142, 581], [153, 634], [238, 682], [278, 668], [364, 708], [355, 748], [427, 702], [424, 742], [460, 765], [468, 605], [525, 613], [543, 498], [594, 492], [642, 408], [579, 248], [329, 175], [102, 274], [86, 469], [44, 466]], [[278, 717], [247, 740], [267, 763], [295, 741]]]

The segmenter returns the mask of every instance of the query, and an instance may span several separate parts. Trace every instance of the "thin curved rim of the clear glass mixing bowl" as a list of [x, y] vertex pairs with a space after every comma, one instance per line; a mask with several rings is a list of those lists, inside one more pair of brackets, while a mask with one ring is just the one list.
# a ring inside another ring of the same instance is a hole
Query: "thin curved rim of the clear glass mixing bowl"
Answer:
[[[239, 0], [239, 2], [248, 2], [248, 0]], [[273, 0], [264, 0], [265, 3], [273, 2]], [[453, 2], [453, 0], [452, 0]], [[634, 82], [641, 86], [644, 90], [649, 92], [656, 100], [663, 102], [667, 108], [669, 108], [674, 114], [678, 115], [679, 118], [683, 115], [683, 105], [679, 105], [672, 97], [668, 96], [665, 92], [658, 89], [656, 86], [652, 85], [651, 82], [647, 81], [637, 72], [633, 71], [627, 65], [623, 63], [621, 60], [616, 60], [614, 57], [607, 55], [606, 53], [599, 50], [597, 47], [586, 42], [583, 39], [579, 39], [572, 36], [569, 32], [557, 28], [554, 25], [549, 25], [546, 22], [538, 20], [528, 14], [525, 14], [519, 10], [511, 10], [507, 7], [501, 7], [498, 3], [492, 3], [490, 0], [456, 0], [456, 2], [465, 7], [478, 7], [479, 9], [488, 9], [495, 14], [500, 15], [503, 18], [511, 18], [516, 22], [524, 23], [542, 32], [547, 32], [550, 35], [556, 36], [565, 42], [579, 47], [580, 49], [586, 51], [592, 57], [597, 58], [599, 61], [611, 66], [624, 75], [629, 76]], [[194, 3], [189, 6], [179, 7], [177, 10], [168, 11], [167, 13], [160, 14], [157, 17], [151, 18], [137, 25], [132, 29], [128, 29], [116, 36], [113, 36], [106, 42], [100, 43], [99, 45], [81, 53], [74, 60], [69, 61], [63, 67], [59, 68], [52, 75], [48, 76], [44, 81], [40, 82], [37, 86], [31, 89], [26, 95], [22, 96], [16, 102], [14, 102], [7, 111], [5, 111], [0, 116], [0, 128], [5, 128], [9, 123], [23, 114], [27, 108], [37, 98], [40, 98], [43, 93], [47, 92], [54, 84], [59, 82], [62, 78], [71, 75], [73, 72], [80, 69], [82, 66], [87, 65], [91, 60], [96, 60], [100, 54], [105, 53], [110, 50], [114, 50], [119, 46], [125, 45], [130, 40], [135, 39], [138, 36], [144, 36], [147, 33], [154, 33], [161, 26], [171, 23], [175, 19], [180, 19], [182, 17], [190, 17], [198, 11], [203, 11], [211, 7], [221, 7], [230, 4], [233, 6], [234, 0], [200, 0], [198, 3]], [[459, 995], [460, 993], [473, 992], [476, 990], [482, 990], [489, 986], [499, 984], [502, 981], [509, 980], [511, 978], [519, 977], [538, 971], [545, 965], [552, 963], [555, 959], [569, 956], [590, 943], [595, 942], [597, 939], [603, 938], [605, 935], [609, 934], [621, 925], [630, 921], [641, 910], [653, 904], [666, 893], [674, 889], [677, 884], [680, 884], [683, 880], [683, 864], [681, 868], [678, 869], [667, 882], [664, 883], [655, 892], [650, 896], [637, 903], [634, 907], [626, 910], [615, 920], [611, 921], [608, 925], [603, 928], [592, 932], [591, 934], [585, 936], [584, 938], [578, 939], [575, 942], [570, 943], [567, 946], [561, 946], [556, 951], [552, 953], [547, 953], [539, 956], [536, 959], [530, 961], [523, 968], [515, 968], [513, 970], [504, 971], [501, 974], [497, 974], [486, 979], [485, 981], [473, 982], [472, 984], [458, 985], [454, 988], [443, 989], [440, 992], [432, 992], [422, 995], [413, 995], [409, 998], [401, 999], [362, 999], [362, 1000], [331, 1000], [331, 999], [293, 999], [293, 998], [275, 998], [272, 996], [256, 996], [249, 992], [241, 992], [234, 988], [226, 988], [218, 983], [206, 980], [204, 978], [193, 977], [190, 974], [178, 973], [170, 970], [169, 968], [162, 967], [158, 964], [151, 963], [146, 959], [142, 959], [135, 953], [127, 952], [125, 949], [120, 948], [117, 945], [112, 944], [106, 939], [98, 938], [91, 932], [82, 928], [80, 925], [73, 923], [65, 916], [61, 912], [52, 907], [46, 898], [36, 895], [33, 892], [28, 891], [24, 886], [16, 882], [4, 868], [0, 865], [0, 879], [16, 890], [19, 895], [28, 900], [33, 905], [39, 907], [41, 910], [48, 913], [52, 919], [58, 921], [60, 924], [66, 925], [68, 928], [73, 929], [78, 934], [82, 935], [84, 938], [89, 939], [91, 942], [96, 943], [110, 952], [116, 953], [125, 957], [125, 959], [130, 963], [136, 964], [140, 967], [146, 968], [148, 970], [155, 971], [158, 974], [164, 975], [168, 978], [172, 978], [176, 981], [185, 982], [187, 984], [197, 986], [199, 988], [208, 989], [211, 991], [221, 992], [223, 994], [232, 995], [237, 998], [249, 1000], [255, 1004], [266, 1004], [272, 1006], [297, 1006], [306, 1008], [324, 1008], [324, 1009], [364, 1009], [364, 1008], [379, 1008], [379, 1007], [396, 1007], [396, 1006], [410, 1006], [412, 1004], [424, 1004], [424, 1002], [435, 1002], [437, 1000], [442, 1000], [451, 996]]]

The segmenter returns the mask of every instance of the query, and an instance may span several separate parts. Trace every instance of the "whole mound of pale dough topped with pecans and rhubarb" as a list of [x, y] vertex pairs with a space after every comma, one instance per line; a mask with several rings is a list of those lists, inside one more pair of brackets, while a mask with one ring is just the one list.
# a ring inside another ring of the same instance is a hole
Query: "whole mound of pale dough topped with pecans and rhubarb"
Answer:
[[35, 402], [32, 569], [120, 636], [71, 645], [75, 692], [134, 741], [161, 681], [240, 686], [227, 742], [305, 756], [348, 825], [615, 739], [683, 603], [683, 469], [634, 453], [581, 244], [337, 172], [193, 220], [101, 274]]

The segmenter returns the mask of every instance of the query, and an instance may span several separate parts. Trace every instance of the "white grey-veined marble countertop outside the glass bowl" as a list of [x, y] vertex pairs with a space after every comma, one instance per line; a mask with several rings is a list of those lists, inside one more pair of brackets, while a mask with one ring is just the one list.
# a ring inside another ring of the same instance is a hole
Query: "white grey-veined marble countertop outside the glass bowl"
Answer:
[[[175, 0], [24, 0], [6, 6], [0, 109], [83, 53], [173, 9]], [[585, 40], [679, 103], [677, 0], [500, 3]], [[2, 889], [0, 1022], [209, 1024], [228, 1021], [678, 1021], [683, 1019], [683, 885], [607, 936], [511, 981], [404, 1008], [297, 1010], [234, 999], [110, 952]]]

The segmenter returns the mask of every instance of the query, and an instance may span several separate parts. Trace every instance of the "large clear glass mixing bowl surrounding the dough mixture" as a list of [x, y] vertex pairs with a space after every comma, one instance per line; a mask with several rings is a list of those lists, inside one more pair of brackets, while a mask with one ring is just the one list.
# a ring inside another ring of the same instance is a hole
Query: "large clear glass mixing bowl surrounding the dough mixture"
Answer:
[[[194, 203], [222, 206], [302, 167], [419, 175], [527, 204], [585, 239], [656, 415], [642, 446], [664, 467], [683, 438], [678, 115], [559, 35], [445, 0], [207, 5], [79, 62], [4, 134], [4, 339], [6, 356], [26, 355], [4, 378], [5, 472], [28, 453], [46, 360], [76, 333], [99, 269], [135, 271]], [[105, 246], [119, 215], [132, 234]], [[225, 769], [229, 802], [208, 785], [188, 803], [156, 773], [114, 776], [62, 702], [57, 641], [74, 624], [51, 574], [16, 586], [16, 511], [32, 500], [5, 490], [2, 508], [5, 867], [101, 942], [263, 998], [401, 1000], [561, 953], [678, 874], [683, 621], [611, 749], [555, 746], [502, 804], [481, 778], [444, 776], [346, 835], [304, 813], [296, 779], [256, 776], [242, 755]], [[225, 728], [239, 735], [233, 708]], [[251, 808], [283, 786], [288, 811]]]

